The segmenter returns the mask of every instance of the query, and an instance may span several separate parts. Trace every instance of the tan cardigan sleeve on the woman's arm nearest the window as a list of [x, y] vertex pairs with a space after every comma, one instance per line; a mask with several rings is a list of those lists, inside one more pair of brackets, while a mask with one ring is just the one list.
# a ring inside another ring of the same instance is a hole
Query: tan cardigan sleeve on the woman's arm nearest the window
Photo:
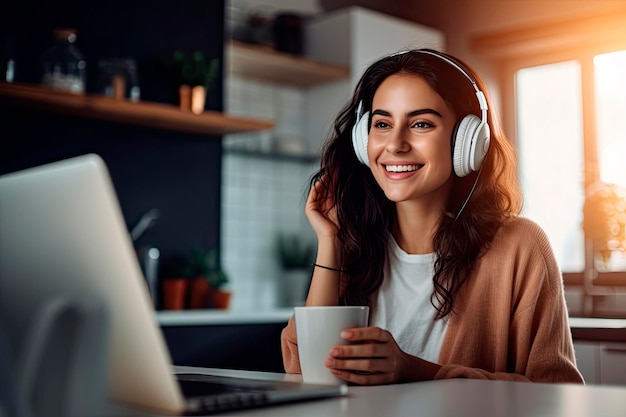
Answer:
[[522, 239], [523, 249], [498, 241], [501, 248], [494, 245], [494, 253], [481, 260], [480, 279], [469, 286], [464, 311], [450, 323], [453, 334], [442, 346], [435, 379], [584, 383], [547, 237], [528, 221], [514, 229], [529, 239]]

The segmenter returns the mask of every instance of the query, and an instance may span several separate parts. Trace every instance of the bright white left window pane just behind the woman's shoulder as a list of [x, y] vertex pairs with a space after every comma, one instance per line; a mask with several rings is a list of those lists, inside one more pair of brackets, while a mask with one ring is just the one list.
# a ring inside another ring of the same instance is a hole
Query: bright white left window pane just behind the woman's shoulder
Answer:
[[522, 215], [546, 231], [564, 272], [585, 267], [580, 71], [566, 61], [524, 68], [515, 80]]

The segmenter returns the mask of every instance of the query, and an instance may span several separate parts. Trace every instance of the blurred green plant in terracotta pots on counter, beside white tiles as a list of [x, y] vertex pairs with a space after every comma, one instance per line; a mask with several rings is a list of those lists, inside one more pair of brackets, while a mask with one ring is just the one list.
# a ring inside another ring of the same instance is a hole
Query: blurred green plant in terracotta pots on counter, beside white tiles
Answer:
[[220, 266], [217, 250], [192, 249], [183, 276], [191, 280], [190, 308], [228, 308], [231, 293], [224, 286], [229, 280]]

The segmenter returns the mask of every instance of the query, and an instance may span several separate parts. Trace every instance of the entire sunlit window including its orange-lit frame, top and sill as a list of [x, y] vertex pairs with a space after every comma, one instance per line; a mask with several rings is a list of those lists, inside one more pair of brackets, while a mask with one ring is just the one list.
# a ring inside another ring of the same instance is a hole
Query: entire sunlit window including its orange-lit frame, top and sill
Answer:
[[[565, 284], [583, 289], [576, 311], [623, 317], [626, 255], [610, 249], [626, 247], [626, 4], [615, 6], [470, 43], [497, 64], [522, 214], [548, 234]], [[616, 207], [621, 219], [590, 214]]]

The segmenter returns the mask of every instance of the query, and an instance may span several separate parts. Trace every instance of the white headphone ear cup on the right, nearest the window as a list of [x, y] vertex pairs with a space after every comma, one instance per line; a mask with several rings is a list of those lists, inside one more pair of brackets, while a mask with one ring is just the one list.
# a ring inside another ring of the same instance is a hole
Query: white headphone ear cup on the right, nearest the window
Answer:
[[489, 125], [476, 115], [465, 116], [456, 129], [452, 165], [454, 173], [465, 177], [478, 171], [489, 147]]

